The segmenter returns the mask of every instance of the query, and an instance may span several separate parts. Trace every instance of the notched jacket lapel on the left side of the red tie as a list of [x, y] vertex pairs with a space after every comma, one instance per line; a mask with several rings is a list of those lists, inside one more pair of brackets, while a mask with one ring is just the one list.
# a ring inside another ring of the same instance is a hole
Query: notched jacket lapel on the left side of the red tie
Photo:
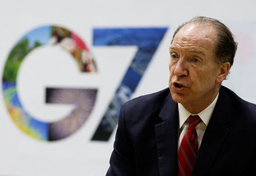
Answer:
[[166, 101], [160, 119], [155, 125], [156, 146], [159, 173], [161, 175], [177, 175], [178, 146], [178, 104], [171, 97]]

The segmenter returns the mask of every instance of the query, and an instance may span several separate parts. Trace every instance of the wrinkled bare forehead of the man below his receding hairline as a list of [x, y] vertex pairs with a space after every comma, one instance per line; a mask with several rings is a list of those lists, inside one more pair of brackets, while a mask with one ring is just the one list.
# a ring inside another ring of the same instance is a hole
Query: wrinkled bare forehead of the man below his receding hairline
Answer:
[[170, 49], [205, 53], [213, 51], [216, 30], [210, 24], [187, 24], [174, 36]]

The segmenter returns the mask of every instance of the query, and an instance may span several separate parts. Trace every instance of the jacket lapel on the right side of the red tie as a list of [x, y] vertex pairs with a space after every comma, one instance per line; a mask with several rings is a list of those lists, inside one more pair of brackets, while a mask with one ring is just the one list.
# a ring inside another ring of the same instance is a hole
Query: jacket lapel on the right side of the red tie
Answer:
[[229, 133], [228, 123], [231, 118], [230, 105], [231, 100], [224, 90], [220, 88], [220, 94], [216, 106], [205, 130], [204, 137], [196, 157], [196, 163], [191, 174], [192, 176], [208, 175], [214, 159]]

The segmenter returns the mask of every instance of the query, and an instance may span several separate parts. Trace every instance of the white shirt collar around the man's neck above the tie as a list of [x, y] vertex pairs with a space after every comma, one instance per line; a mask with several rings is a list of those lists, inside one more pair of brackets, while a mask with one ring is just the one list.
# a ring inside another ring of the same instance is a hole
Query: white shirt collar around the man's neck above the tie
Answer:
[[185, 109], [184, 106], [178, 103], [180, 128], [182, 127], [183, 123], [185, 123], [185, 121], [188, 119], [190, 115], [198, 115], [201, 118], [201, 120], [204, 122], [204, 124], [207, 126], [212, 116], [213, 109], [217, 103], [218, 97], [219, 97], [219, 93], [216, 96], [216, 98], [213, 100], [213, 102], [198, 114], [190, 113], [187, 109]]

